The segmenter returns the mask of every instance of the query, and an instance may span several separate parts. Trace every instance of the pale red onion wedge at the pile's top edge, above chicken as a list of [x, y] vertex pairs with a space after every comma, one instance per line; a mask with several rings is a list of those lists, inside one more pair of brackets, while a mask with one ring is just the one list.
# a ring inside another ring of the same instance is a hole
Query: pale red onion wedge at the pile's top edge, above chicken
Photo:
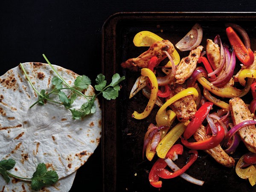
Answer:
[[201, 44], [203, 38], [203, 29], [196, 23], [192, 29], [175, 45], [180, 51], [195, 49]]

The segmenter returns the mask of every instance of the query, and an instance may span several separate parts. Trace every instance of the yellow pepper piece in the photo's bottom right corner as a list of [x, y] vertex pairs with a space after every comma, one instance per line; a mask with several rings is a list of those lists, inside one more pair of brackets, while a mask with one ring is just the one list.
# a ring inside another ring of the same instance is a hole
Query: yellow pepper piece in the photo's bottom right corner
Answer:
[[249, 179], [250, 184], [253, 186], [256, 183], [256, 168], [253, 165], [245, 169], [241, 168], [244, 163], [244, 156], [245, 155], [243, 155], [236, 164], [236, 174], [242, 179]]

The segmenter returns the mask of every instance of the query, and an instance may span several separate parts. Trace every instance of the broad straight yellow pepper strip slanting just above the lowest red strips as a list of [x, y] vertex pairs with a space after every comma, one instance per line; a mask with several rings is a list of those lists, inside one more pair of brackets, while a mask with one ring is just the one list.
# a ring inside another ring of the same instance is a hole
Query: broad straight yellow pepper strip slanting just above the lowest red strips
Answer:
[[156, 152], [157, 156], [160, 158], [165, 158], [167, 152], [170, 150], [172, 145], [176, 143], [176, 141], [180, 138], [183, 132], [186, 129], [187, 122], [180, 122], [172, 128], [165, 137], [158, 143]]

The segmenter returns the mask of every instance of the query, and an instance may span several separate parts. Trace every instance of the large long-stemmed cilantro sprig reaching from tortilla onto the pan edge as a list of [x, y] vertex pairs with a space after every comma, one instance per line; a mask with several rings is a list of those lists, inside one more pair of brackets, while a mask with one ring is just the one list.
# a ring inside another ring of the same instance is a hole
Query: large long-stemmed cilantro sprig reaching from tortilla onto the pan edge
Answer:
[[[49, 60], [46, 58], [46, 56], [43, 54], [45, 60], [49, 64], [49, 66], [52, 68], [52, 70], [55, 72], [56, 76], [52, 78], [52, 90], [40, 90], [38, 91], [31, 80], [29, 79], [29, 76], [26, 73], [26, 70], [24, 69], [23, 65], [20, 64], [21, 69], [23, 70], [26, 79], [29, 81], [29, 84], [32, 86], [32, 88], [35, 90], [35, 92], [38, 94], [38, 101], [33, 103], [30, 108], [35, 106], [36, 104], [39, 105], [45, 105], [47, 101], [54, 102], [59, 105], [64, 105], [65, 108], [70, 110], [72, 113], [73, 119], [81, 119], [84, 116], [87, 116], [89, 114], [96, 112], [96, 106], [94, 104], [95, 98], [102, 94], [103, 98], [107, 100], [116, 99], [118, 97], [118, 92], [120, 90], [119, 83], [125, 79], [125, 76], [120, 77], [118, 73], [114, 74], [112, 77], [112, 81], [110, 84], [107, 85], [107, 81], [105, 80], [105, 76], [103, 74], [99, 74], [96, 77], [96, 85], [95, 90], [99, 91], [99, 93], [94, 94], [92, 96], [87, 96], [82, 93], [82, 90], [86, 90], [89, 85], [91, 84], [91, 80], [89, 77], [82, 75], [77, 76], [75, 81], [73, 82], [74, 86], [71, 87], [70, 84], [68, 84], [61, 75], [55, 70], [55, 68], [52, 66], [52, 64], [49, 62]], [[65, 85], [65, 87], [64, 87]], [[70, 90], [70, 93], [64, 93], [63, 90]], [[59, 101], [55, 101], [51, 98], [51, 95], [58, 95]], [[77, 96], [83, 96], [87, 102], [81, 105], [80, 108], [75, 109], [72, 108], [73, 102], [77, 99]]]

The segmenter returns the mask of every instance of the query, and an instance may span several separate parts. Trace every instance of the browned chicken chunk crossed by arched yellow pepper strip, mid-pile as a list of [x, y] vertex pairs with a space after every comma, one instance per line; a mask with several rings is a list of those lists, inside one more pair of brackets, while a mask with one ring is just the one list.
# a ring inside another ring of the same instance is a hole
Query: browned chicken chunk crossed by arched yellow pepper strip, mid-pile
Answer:
[[[183, 89], [184, 88], [180, 84], [172, 85], [170, 97], [179, 93]], [[171, 107], [172, 111], [174, 111], [176, 113], [177, 119], [181, 122], [185, 122], [185, 121], [191, 119], [195, 115], [195, 112], [196, 112], [196, 104], [191, 95], [185, 96], [185, 97], [177, 100], [172, 105], [170, 105], [170, 107]]]

